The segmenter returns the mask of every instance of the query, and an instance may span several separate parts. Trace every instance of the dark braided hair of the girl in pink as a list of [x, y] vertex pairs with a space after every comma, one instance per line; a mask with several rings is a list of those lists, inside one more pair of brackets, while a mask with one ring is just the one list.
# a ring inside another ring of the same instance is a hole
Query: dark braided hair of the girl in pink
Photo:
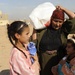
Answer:
[[[9, 24], [7, 25], [8, 38], [14, 47], [16, 47], [14, 44], [14, 41], [17, 41], [17, 38], [15, 37], [15, 33], [21, 34], [23, 32], [24, 28], [26, 28], [26, 27], [28, 27], [28, 25], [22, 21], [14, 21], [10, 25]], [[18, 47], [16, 47], [16, 48], [18, 50], [20, 50]], [[20, 51], [25, 55], [25, 53], [22, 50], [20, 50]]]

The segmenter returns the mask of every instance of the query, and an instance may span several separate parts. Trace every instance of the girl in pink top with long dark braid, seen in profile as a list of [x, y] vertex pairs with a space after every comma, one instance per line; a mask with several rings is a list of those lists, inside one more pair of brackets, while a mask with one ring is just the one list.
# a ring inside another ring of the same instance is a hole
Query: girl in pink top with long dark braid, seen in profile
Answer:
[[30, 39], [28, 25], [22, 21], [15, 21], [7, 26], [7, 32], [13, 45], [10, 58], [10, 75], [39, 75], [39, 65], [36, 65], [38, 61], [35, 59], [34, 63], [31, 62], [31, 55], [27, 49]]

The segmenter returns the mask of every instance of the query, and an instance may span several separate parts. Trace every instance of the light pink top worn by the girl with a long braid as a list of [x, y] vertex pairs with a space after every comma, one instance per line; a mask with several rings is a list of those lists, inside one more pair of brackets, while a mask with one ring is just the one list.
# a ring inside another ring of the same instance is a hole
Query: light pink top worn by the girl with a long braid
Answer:
[[17, 48], [12, 48], [10, 58], [10, 75], [35, 75], [35, 69], [30, 60], [29, 51], [23, 51], [26, 56]]

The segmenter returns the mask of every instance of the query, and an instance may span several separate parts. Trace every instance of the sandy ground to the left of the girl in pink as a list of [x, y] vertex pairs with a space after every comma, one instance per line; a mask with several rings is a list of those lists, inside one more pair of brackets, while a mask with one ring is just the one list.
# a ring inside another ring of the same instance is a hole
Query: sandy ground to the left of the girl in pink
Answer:
[[11, 47], [12, 45], [7, 36], [7, 26], [0, 26], [0, 75], [9, 75], [9, 58]]

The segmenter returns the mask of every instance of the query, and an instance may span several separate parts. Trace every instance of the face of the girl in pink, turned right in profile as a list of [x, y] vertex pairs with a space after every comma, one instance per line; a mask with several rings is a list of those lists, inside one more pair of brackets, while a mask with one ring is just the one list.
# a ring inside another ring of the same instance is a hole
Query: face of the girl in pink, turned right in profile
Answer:
[[18, 41], [27, 44], [29, 42], [29, 39], [29, 27], [26, 27], [20, 35], [18, 34]]

